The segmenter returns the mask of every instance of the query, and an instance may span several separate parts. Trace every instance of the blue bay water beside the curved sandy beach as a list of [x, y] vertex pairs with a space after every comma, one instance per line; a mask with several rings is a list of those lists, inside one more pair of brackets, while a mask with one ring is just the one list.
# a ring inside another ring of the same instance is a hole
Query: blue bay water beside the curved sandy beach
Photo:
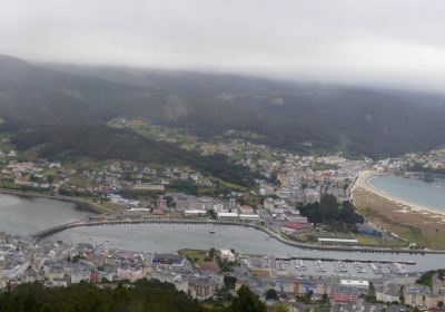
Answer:
[[403, 201], [445, 212], [445, 182], [426, 183], [398, 176], [369, 179], [374, 187]]

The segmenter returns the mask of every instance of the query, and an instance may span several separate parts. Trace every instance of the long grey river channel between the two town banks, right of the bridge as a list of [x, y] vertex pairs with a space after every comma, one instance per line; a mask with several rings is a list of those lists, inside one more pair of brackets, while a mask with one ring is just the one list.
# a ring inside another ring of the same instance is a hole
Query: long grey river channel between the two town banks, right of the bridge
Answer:
[[[215, 230], [215, 234], [209, 231]], [[57, 233], [50, 240], [70, 242], [105, 243], [108, 247], [176, 252], [181, 248], [234, 248], [243, 253], [271, 254], [276, 256], [307, 256], [362, 260], [414, 260], [418, 264], [408, 266], [412, 271], [445, 266], [445, 255], [411, 255], [365, 252], [328, 252], [301, 250], [283, 244], [267, 234], [240, 226], [136, 224], [106, 225], [70, 228]]]

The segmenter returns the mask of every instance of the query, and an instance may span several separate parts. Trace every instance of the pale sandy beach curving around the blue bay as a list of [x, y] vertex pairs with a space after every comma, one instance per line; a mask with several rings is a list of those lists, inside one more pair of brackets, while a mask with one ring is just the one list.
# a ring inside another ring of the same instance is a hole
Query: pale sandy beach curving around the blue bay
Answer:
[[419, 213], [423, 215], [428, 215], [435, 218], [438, 218], [443, 222], [445, 222], [445, 212], [438, 211], [438, 208], [434, 207], [426, 207], [422, 206], [415, 203], [407, 202], [405, 199], [398, 198], [397, 196], [393, 196], [382, 189], [376, 188], [373, 186], [369, 181], [379, 176], [388, 176], [388, 173], [380, 173], [380, 172], [374, 172], [374, 170], [364, 170], [360, 172], [358, 175], [358, 178], [354, 183], [354, 186], [352, 188], [352, 193], [356, 187], [362, 187], [365, 191], [368, 191], [377, 196], [380, 196], [393, 204], [396, 204], [397, 206], [400, 207], [400, 213], [408, 213], [408, 212], [414, 212], [414, 213]]

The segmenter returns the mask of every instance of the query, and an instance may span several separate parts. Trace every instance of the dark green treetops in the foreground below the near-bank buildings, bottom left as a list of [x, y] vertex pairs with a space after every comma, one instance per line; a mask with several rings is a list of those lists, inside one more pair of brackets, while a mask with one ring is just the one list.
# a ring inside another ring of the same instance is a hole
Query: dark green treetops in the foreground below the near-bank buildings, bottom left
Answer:
[[0, 293], [0, 312], [266, 312], [266, 305], [247, 286], [230, 304], [214, 309], [157, 280], [98, 287], [81, 282], [68, 287], [22, 284]]

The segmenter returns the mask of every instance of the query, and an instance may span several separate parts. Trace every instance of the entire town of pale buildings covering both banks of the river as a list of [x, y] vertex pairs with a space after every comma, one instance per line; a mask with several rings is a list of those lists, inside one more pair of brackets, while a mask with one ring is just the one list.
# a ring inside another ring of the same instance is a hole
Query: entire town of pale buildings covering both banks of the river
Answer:
[[[112, 286], [119, 281], [155, 279], [202, 301], [231, 298], [240, 285], [248, 285], [269, 306], [285, 304], [287, 311], [405, 311], [406, 306], [436, 311], [443, 306], [444, 274], [433, 274], [431, 286], [422, 284], [424, 272], [413, 270], [411, 261], [296, 259], [229, 248], [165, 254], [51, 241], [50, 234], [72, 226], [190, 222], [249, 226], [295, 246], [414, 251], [419, 248], [416, 243], [369, 220], [352, 224], [354, 231], [333, 231], [312, 222], [301, 207], [323, 202], [326, 195], [335, 203], [353, 202], [354, 186], [366, 170], [405, 175], [416, 168], [431, 178], [445, 169], [445, 149], [373, 160], [340, 153], [298, 155], [239, 138], [184, 144], [201, 155], [226, 155], [263, 178], [247, 188], [187, 166], [30, 160], [2, 139], [3, 193], [72, 201], [96, 214], [33, 235], [2, 233], [1, 289], [36, 281], [58, 287], [80, 281]], [[209, 235], [214, 233], [210, 230]]]

